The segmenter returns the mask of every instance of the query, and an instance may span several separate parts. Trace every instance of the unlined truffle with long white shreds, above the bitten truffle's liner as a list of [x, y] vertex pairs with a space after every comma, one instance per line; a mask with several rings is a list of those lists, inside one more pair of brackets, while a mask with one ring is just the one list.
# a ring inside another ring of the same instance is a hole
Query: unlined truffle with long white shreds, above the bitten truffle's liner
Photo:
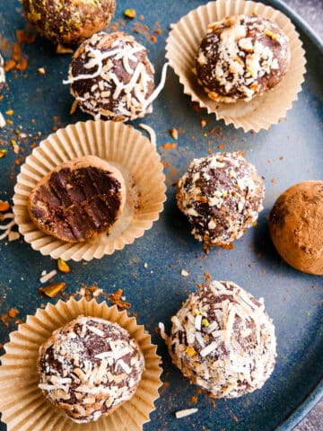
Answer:
[[94, 119], [127, 121], [152, 111], [153, 76], [143, 45], [126, 33], [101, 31], [74, 53], [65, 84]]

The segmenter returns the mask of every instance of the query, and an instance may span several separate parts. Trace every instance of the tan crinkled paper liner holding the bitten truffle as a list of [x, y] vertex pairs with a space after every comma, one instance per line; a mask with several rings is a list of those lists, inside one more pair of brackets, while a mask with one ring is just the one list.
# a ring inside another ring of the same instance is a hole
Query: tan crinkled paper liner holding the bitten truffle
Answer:
[[[41, 232], [27, 210], [36, 184], [58, 164], [84, 155], [96, 155], [116, 166], [127, 186], [122, 215], [108, 233], [86, 242], [69, 243]], [[54, 259], [91, 260], [122, 250], [144, 235], [159, 218], [165, 196], [160, 155], [149, 140], [131, 126], [113, 121], [78, 122], [43, 140], [22, 165], [14, 187], [15, 222], [34, 250]]]

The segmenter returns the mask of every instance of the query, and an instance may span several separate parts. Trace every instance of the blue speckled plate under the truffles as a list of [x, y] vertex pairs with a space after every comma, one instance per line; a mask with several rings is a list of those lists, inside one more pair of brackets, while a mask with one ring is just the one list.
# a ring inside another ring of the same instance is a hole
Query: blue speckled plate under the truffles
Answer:
[[[118, 0], [114, 23], [119, 30], [136, 31], [137, 40], [150, 50], [158, 79], [165, 61], [170, 23], [177, 22], [202, 3], [164, 0], [161, 6], [153, 0]], [[66, 294], [74, 293], [82, 284], [93, 283], [106, 293], [124, 289], [124, 295], [132, 303], [131, 310], [139, 314], [139, 323], [153, 334], [162, 356], [165, 384], [152, 420], [144, 426], [146, 431], [291, 430], [323, 393], [322, 277], [288, 267], [275, 252], [267, 229], [269, 210], [284, 189], [301, 180], [323, 178], [322, 46], [288, 8], [274, 0], [265, 3], [292, 18], [307, 53], [306, 80], [287, 118], [257, 135], [225, 127], [214, 116], [192, 109], [178, 77], [170, 70], [167, 84], [154, 102], [153, 114], [144, 119], [157, 132], [158, 149], [167, 175], [168, 200], [160, 220], [143, 238], [123, 251], [86, 265], [72, 262], [69, 274], [56, 277], [57, 281], [66, 282]], [[127, 7], [135, 7], [135, 21], [124, 20], [123, 11]], [[143, 20], [139, 17], [141, 14]], [[1, 2], [0, 47], [6, 59], [12, 54], [6, 40], [12, 44], [15, 31], [24, 29], [25, 25], [18, 0]], [[158, 29], [162, 29], [162, 34]], [[35, 43], [22, 43], [22, 56], [28, 57], [28, 67], [24, 72], [7, 74], [0, 105], [2, 112], [14, 111], [11, 117], [4, 114], [13, 124], [0, 131], [0, 148], [8, 150], [0, 159], [0, 199], [4, 200], [13, 197], [14, 178], [19, 172], [16, 161], [22, 163], [23, 157], [31, 153], [32, 145], [39, 143], [39, 132], [41, 136], [48, 136], [53, 128], [89, 119], [80, 111], [73, 116], [69, 113], [73, 100], [68, 88], [61, 84], [66, 77], [69, 55], [57, 56], [51, 43], [39, 37]], [[46, 75], [37, 73], [39, 67], [45, 67]], [[200, 126], [202, 118], [207, 119], [205, 128]], [[17, 128], [28, 137], [20, 141], [20, 153], [14, 154], [10, 141], [16, 138]], [[179, 141], [176, 148], [166, 149], [162, 145], [174, 142], [170, 128], [179, 129]], [[213, 250], [205, 256], [201, 245], [190, 235], [186, 218], [175, 205], [173, 184], [193, 157], [205, 155], [209, 150], [217, 151], [219, 145], [226, 151], [244, 151], [247, 159], [257, 165], [266, 182], [265, 209], [257, 227], [236, 242], [233, 250]], [[15, 307], [19, 311], [17, 318], [24, 320], [28, 313], [34, 313], [40, 304], [47, 302], [39, 296], [39, 277], [43, 269], [56, 268], [56, 262], [32, 251], [22, 239], [0, 242], [0, 262], [0, 314]], [[181, 269], [186, 269], [189, 276], [182, 277]], [[264, 388], [238, 400], [216, 400], [215, 406], [170, 364], [164, 343], [154, 331], [159, 321], [170, 328], [170, 316], [196, 288], [196, 283], [204, 279], [205, 271], [215, 279], [235, 281], [253, 295], [264, 297], [266, 310], [275, 321], [278, 341], [275, 372]], [[51, 301], [55, 303], [57, 298]], [[8, 341], [9, 332], [16, 328], [15, 319], [6, 321], [8, 328], [0, 321], [2, 343]], [[198, 407], [198, 412], [188, 418], [174, 417], [176, 410], [189, 407]], [[1, 425], [0, 429], [4, 431], [5, 426]]]

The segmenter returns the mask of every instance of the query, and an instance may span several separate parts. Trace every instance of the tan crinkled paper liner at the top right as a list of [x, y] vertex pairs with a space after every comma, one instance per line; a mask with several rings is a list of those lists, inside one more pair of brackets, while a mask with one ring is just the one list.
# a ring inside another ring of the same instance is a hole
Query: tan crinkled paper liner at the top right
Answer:
[[[241, 13], [256, 13], [277, 23], [290, 39], [291, 65], [282, 83], [262, 96], [256, 96], [252, 101], [234, 103], [212, 101], [197, 83], [196, 75], [192, 72], [196, 52], [205, 37], [209, 23]], [[304, 81], [303, 75], [306, 71], [305, 52], [301, 46], [294, 25], [284, 13], [262, 3], [217, 0], [198, 7], [172, 25], [166, 45], [166, 57], [175, 73], [179, 75], [184, 92], [192, 101], [198, 102], [208, 113], [214, 113], [216, 119], [223, 119], [226, 125], [233, 124], [235, 128], [243, 128], [245, 132], [249, 130], [258, 132], [263, 128], [267, 130], [272, 124], [284, 119], [286, 111], [292, 108], [292, 102], [297, 100], [297, 93], [301, 92], [301, 83]]]

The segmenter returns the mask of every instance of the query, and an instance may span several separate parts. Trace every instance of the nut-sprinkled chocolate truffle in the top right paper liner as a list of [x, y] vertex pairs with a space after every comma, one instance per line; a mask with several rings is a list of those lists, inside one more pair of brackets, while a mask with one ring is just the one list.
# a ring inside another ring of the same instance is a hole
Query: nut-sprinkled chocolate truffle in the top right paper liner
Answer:
[[236, 15], [208, 25], [196, 74], [214, 101], [250, 101], [279, 84], [290, 64], [288, 37], [265, 17]]

